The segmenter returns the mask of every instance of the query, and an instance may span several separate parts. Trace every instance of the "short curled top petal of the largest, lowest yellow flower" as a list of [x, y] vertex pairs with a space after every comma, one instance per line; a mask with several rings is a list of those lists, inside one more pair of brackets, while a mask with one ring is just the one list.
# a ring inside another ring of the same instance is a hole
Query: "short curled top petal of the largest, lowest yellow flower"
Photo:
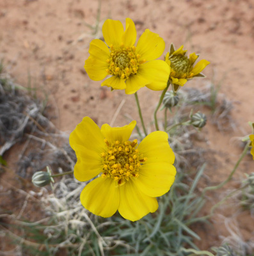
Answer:
[[120, 141], [125, 142], [129, 140], [131, 132], [136, 125], [136, 121], [132, 121], [130, 124], [123, 127], [111, 127], [108, 124], [104, 124], [101, 127], [102, 134], [109, 142]]

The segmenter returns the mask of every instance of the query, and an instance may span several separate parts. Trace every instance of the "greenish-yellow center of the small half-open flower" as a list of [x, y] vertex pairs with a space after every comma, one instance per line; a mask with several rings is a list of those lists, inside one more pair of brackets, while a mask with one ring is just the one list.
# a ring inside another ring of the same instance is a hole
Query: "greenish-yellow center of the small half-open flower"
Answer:
[[182, 55], [173, 55], [169, 57], [171, 72], [170, 76], [175, 78], [189, 78], [189, 74], [193, 65], [189, 61], [189, 58]]

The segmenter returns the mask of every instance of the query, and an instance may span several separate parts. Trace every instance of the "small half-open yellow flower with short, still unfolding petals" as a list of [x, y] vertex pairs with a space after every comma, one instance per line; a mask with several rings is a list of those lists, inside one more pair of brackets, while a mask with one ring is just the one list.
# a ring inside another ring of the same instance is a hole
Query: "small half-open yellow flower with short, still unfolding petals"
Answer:
[[185, 56], [187, 50], [183, 50], [184, 45], [182, 45], [177, 51], [173, 44], [170, 46], [170, 52], [165, 56], [165, 61], [170, 66], [170, 81], [174, 92], [179, 90], [180, 86], [184, 86], [187, 80], [193, 77], [205, 77], [202, 70], [210, 64], [207, 60], [200, 60], [193, 67], [194, 62], [198, 58], [195, 52], [189, 54], [189, 58]]

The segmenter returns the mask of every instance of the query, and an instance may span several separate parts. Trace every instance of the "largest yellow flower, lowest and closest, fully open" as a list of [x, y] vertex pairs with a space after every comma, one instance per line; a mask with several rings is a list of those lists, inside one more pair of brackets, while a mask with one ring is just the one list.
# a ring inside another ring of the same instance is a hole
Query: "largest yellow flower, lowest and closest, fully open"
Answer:
[[104, 218], [118, 210], [123, 218], [139, 220], [158, 208], [156, 196], [170, 190], [175, 180], [175, 155], [168, 144], [168, 134], [150, 133], [138, 145], [129, 141], [136, 125], [132, 121], [123, 127], [102, 125], [101, 129], [89, 117], [70, 134], [70, 146], [75, 150], [77, 180], [93, 179], [81, 192], [81, 204]]

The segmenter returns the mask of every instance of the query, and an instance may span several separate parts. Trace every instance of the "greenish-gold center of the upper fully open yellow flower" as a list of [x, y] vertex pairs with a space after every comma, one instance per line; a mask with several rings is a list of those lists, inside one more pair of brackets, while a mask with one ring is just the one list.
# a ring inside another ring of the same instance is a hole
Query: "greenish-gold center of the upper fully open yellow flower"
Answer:
[[146, 60], [139, 60], [140, 54], [136, 53], [136, 47], [124, 47], [121, 45], [119, 48], [110, 47], [110, 58], [107, 59], [109, 67], [106, 72], [113, 76], [119, 76], [126, 80], [131, 74], [137, 74], [138, 66]]

